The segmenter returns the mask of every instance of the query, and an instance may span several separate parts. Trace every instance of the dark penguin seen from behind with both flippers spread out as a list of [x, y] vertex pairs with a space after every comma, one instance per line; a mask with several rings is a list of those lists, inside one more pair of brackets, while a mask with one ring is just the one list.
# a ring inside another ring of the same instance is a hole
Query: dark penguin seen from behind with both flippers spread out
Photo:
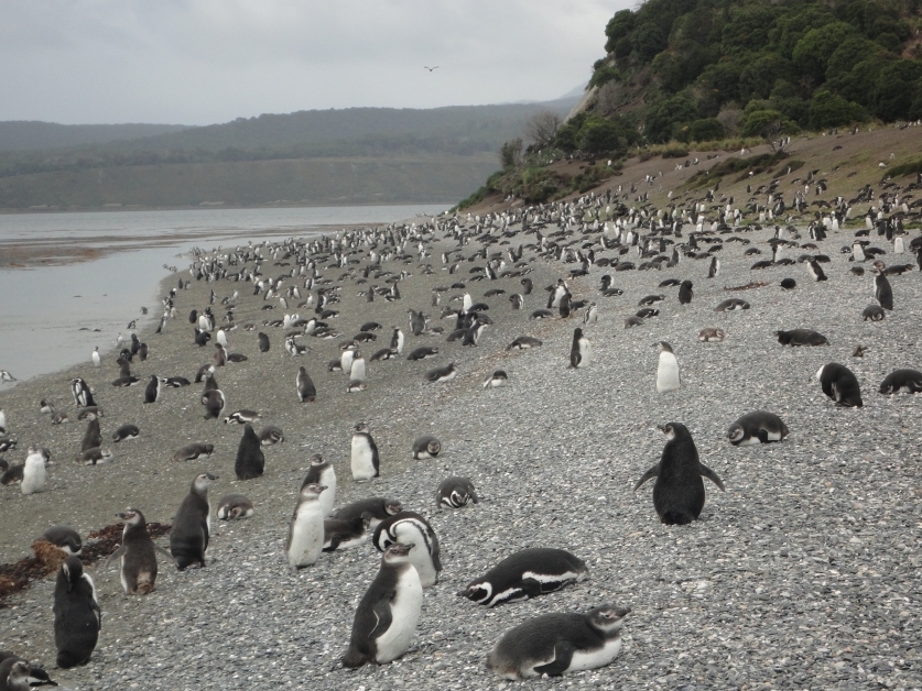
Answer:
[[704, 481], [711, 480], [726, 492], [724, 483], [713, 470], [698, 460], [698, 450], [688, 428], [681, 423], [669, 423], [659, 427], [666, 436], [666, 443], [660, 462], [648, 470], [633, 487], [637, 492], [651, 478], [653, 507], [665, 525], [685, 525], [697, 520], [704, 508]]

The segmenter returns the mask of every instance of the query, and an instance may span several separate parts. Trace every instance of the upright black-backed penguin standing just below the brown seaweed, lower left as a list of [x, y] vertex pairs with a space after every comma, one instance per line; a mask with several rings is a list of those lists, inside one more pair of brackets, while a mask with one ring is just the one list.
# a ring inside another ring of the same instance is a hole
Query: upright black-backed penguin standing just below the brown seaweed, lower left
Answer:
[[72, 555], [61, 564], [53, 608], [57, 666], [66, 669], [86, 665], [99, 640], [102, 611], [96, 601], [93, 579], [84, 573], [79, 557]]

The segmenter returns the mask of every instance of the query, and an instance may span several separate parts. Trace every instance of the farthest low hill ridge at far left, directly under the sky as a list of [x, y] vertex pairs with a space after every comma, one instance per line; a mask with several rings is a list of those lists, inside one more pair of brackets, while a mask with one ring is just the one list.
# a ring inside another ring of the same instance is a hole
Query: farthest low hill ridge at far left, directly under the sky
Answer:
[[155, 134], [180, 132], [184, 124], [57, 124], [32, 120], [0, 122], [0, 151], [35, 151], [107, 144]]

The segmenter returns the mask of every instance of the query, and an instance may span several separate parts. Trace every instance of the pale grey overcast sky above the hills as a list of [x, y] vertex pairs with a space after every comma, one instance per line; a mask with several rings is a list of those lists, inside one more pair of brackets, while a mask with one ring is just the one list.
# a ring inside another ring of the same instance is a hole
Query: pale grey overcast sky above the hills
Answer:
[[[630, 0], [0, 2], [0, 120], [209, 124], [547, 100]], [[430, 73], [423, 66], [437, 65]]]

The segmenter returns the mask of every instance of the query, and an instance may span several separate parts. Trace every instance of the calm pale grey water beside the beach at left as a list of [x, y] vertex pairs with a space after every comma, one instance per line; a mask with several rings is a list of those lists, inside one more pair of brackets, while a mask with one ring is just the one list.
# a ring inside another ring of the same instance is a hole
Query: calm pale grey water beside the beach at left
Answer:
[[[0, 215], [0, 252], [9, 242], [66, 241], [116, 249], [66, 266], [0, 270], [0, 370], [23, 381], [89, 361], [112, 349], [140, 308], [160, 319], [163, 264], [188, 267], [194, 246], [232, 246], [265, 238], [307, 237], [341, 226], [434, 216], [447, 205], [202, 209]], [[143, 249], [138, 249], [142, 245]], [[188, 273], [184, 274], [186, 277]], [[90, 330], [80, 330], [82, 328]], [[94, 331], [93, 329], [99, 329]], [[0, 383], [0, 387], [11, 384]]]

